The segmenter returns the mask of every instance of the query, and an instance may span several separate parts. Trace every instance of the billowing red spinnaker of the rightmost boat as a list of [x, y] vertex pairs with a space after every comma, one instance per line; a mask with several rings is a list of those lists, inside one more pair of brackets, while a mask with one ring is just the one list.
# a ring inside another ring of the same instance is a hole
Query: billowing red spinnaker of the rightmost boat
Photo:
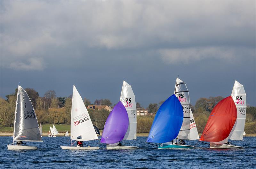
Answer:
[[212, 110], [200, 140], [220, 142], [231, 132], [237, 117], [236, 105], [231, 96], [222, 99]]

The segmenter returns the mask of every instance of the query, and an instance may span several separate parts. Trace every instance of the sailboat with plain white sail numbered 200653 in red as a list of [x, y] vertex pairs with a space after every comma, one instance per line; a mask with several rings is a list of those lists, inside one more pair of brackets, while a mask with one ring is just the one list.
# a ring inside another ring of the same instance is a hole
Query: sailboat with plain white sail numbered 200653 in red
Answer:
[[62, 149], [67, 150], [93, 150], [99, 149], [99, 147], [80, 147], [72, 146], [72, 140], [75, 141], [89, 141], [96, 140], [98, 136], [92, 125], [92, 120], [89, 113], [84, 105], [82, 97], [76, 90], [75, 85], [73, 86], [73, 97], [71, 107], [71, 127], [70, 127], [70, 146], [60, 146]]

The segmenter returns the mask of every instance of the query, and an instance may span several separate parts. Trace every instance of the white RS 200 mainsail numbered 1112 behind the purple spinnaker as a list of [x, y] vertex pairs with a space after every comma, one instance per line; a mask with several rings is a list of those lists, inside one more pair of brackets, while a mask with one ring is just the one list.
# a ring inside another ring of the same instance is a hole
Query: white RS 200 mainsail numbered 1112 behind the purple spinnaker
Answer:
[[126, 81], [123, 82], [120, 101], [128, 113], [129, 126], [123, 140], [133, 140], [137, 138], [137, 111], [135, 96], [132, 91], [132, 86]]

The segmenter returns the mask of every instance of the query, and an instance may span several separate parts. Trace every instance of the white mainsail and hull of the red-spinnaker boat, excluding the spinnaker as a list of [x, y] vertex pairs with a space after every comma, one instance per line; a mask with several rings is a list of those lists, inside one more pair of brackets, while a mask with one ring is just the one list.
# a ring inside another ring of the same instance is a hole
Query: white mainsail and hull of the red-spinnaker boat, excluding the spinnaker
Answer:
[[231, 145], [231, 143], [228, 142], [228, 139], [243, 140], [243, 137], [245, 135], [244, 125], [245, 125], [245, 118], [246, 118], [246, 93], [244, 90], [244, 86], [240, 84], [238, 81], [235, 81], [234, 83], [231, 97], [236, 105], [236, 111], [237, 111], [236, 122], [228, 138], [224, 139], [221, 142], [211, 142], [210, 148], [244, 148], [240, 146]]

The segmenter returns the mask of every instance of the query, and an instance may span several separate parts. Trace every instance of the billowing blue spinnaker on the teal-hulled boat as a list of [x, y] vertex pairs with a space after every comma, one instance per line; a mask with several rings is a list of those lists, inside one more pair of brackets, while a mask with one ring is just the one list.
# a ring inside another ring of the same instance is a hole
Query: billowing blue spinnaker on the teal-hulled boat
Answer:
[[183, 109], [175, 95], [170, 96], [156, 112], [147, 142], [170, 142], [177, 137], [183, 121]]

